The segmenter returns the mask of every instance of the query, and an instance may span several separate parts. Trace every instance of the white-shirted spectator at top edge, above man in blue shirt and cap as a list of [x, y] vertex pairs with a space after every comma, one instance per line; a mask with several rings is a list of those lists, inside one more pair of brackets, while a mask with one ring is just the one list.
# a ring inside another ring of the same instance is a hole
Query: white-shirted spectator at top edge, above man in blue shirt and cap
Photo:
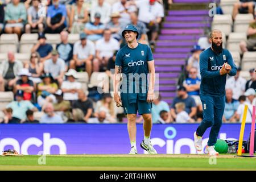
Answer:
[[98, 3], [92, 5], [92, 10], [90, 11], [90, 21], [94, 22], [94, 14], [96, 12], [101, 14], [101, 23], [106, 24], [110, 21], [111, 6], [109, 3], [104, 2], [104, 0], [98, 0]]

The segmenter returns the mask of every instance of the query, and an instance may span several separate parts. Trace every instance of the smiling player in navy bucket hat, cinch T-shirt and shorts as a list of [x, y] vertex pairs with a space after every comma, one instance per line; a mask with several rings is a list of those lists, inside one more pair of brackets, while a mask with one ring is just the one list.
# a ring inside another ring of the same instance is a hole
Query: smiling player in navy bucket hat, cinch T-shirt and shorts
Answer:
[[[127, 114], [128, 133], [131, 143], [130, 154], [137, 154], [136, 118], [137, 111], [144, 119], [144, 140], [141, 147], [148, 154], [157, 154], [150, 142], [152, 128], [151, 108], [154, 99], [155, 65], [149, 46], [137, 42], [139, 33], [135, 26], [128, 25], [122, 31], [127, 45], [119, 49], [115, 59], [114, 100]], [[122, 73], [121, 97], [118, 94]], [[147, 79], [150, 73], [149, 79]], [[146, 82], [146, 83], [145, 83]], [[135, 89], [135, 92], [134, 92]]]

